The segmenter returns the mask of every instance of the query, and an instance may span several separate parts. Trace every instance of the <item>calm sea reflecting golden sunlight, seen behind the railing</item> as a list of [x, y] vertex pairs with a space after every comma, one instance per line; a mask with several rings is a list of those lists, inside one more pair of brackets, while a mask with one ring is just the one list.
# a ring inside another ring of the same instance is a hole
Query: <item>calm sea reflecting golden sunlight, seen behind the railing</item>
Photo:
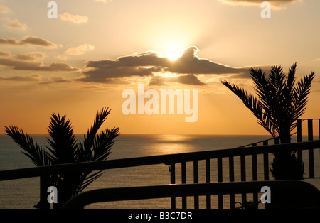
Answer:
[[[42, 145], [47, 145], [46, 135], [33, 135], [33, 139]], [[77, 136], [81, 139], [82, 136]], [[270, 136], [224, 136], [224, 135], [120, 135], [112, 147], [108, 159], [134, 158], [142, 156], [156, 156], [172, 153], [187, 153], [195, 151], [210, 151], [225, 148], [235, 148], [249, 143], [262, 141]], [[319, 174], [319, 150], [315, 151], [316, 173]], [[270, 160], [271, 161], [271, 160]], [[236, 163], [236, 161], [235, 161]], [[259, 164], [261, 164], [259, 162]], [[199, 163], [199, 166], [201, 163]], [[224, 163], [228, 165], [228, 163]], [[212, 165], [215, 167], [216, 165]], [[34, 167], [32, 161], [21, 153], [21, 148], [6, 135], [0, 135], [0, 170]], [[235, 167], [236, 168], [236, 167]], [[178, 168], [177, 168], [178, 169]], [[193, 173], [188, 171], [187, 183], [192, 183]], [[178, 170], [176, 170], [178, 172]], [[201, 171], [201, 170], [200, 170]], [[225, 171], [227, 172], [227, 171]], [[237, 169], [235, 170], [237, 173]], [[228, 173], [223, 173], [223, 178], [228, 179]], [[177, 173], [178, 175], [178, 173]], [[190, 175], [190, 176], [189, 176]], [[259, 173], [262, 177], [263, 173]], [[319, 175], [318, 175], [319, 177]], [[200, 176], [201, 178], [201, 176]], [[178, 179], [178, 176], [177, 176]], [[215, 176], [213, 176], [213, 182]], [[235, 179], [237, 181], [237, 179]], [[226, 180], [228, 181], [228, 180]], [[309, 180], [319, 187], [318, 179]], [[199, 183], [204, 183], [201, 178]], [[105, 170], [104, 174], [89, 185], [87, 190], [103, 187], [132, 187], [146, 185], [166, 185], [170, 183], [169, 168], [166, 165], [149, 165], [145, 167], [119, 168]], [[179, 183], [176, 180], [176, 183]], [[192, 197], [188, 197], [193, 204]], [[201, 204], [205, 208], [205, 198]], [[0, 181], [0, 208], [32, 209], [39, 200], [39, 178]], [[228, 200], [228, 199], [225, 199]], [[179, 198], [177, 198], [179, 202]], [[192, 206], [192, 205], [191, 205]], [[215, 204], [213, 202], [213, 206]], [[177, 206], [178, 207], [178, 206]], [[213, 207], [213, 208], [214, 208]], [[103, 202], [88, 205], [86, 208], [170, 208], [170, 199], [136, 200], [121, 202]], [[192, 208], [192, 207], [191, 207]]]

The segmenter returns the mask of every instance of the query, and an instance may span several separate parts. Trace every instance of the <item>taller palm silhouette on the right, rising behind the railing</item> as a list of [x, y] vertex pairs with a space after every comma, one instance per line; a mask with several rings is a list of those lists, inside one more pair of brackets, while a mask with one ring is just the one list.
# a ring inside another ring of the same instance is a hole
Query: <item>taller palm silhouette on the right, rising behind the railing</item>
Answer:
[[[255, 84], [257, 97], [248, 94], [237, 85], [222, 81], [237, 95], [252, 114], [258, 119], [273, 138], [279, 138], [280, 143], [290, 143], [292, 131], [297, 125], [297, 119], [304, 114], [307, 97], [311, 92], [311, 82], [314, 72], [304, 76], [296, 84], [296, 68], [294, 63], [286, 75], [281, 66], [272, 66], [269, 77], [260, 67], [251, 67], [250, 75]], [[274, 153], [271, 172], [276, 179], [302, 179], [304, 166], [295, 156], [295, 151]]]

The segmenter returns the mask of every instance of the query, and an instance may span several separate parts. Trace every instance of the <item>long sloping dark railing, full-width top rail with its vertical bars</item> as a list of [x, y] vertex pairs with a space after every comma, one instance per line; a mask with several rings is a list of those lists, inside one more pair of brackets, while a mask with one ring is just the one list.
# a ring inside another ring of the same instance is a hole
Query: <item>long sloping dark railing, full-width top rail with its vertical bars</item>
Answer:
[[[206, 163], [206, 183], [211, 182], [211, 168], [210, 168], [210, 159], [218, 160], [218, 182], [222, 182], [223, 174], [223, 158], [228, 158], [229, 160], [229, 180], [230, 182], [235, 181], [235, 168], [234, 168], [234, 158], [235, 156], [240, 156], [240, 175], [241, 181], [246, 181], [246, 158], [245, 156], [252, 156], [252, 180], [257, 180], [257, 154], [262, 154], [264, 161], [268, 161], [268, 154], [274, 153], [275, 151], [282, 150], [306, 150], [306, 149], [315, 149], [320, 148], [320, 141], [308, 141], [300, 143], [288, 143], [280, 145], [269, 145], [269, 146], [256, 146], [256, 147], [247, 147], [247, 148], [231, 148], [224, 149], [219, 151], [203, 151], [203, 152], [193, 152], [193, 153], [179, 153], [172, 155], [161, 155], [161, 156], [148, 156], [141, 158], [125, 158], [119, 160], [110, 160], [110, 161], [96, 161], [90, 163], [70, 163], [70, 164], [60, 164], [60, 165], [49, 165], [36, 168], [25, 168], [19, 170], [4, 170], [0, 171], [0, 181], [1, 180], [13, 180], [21, 178], [33, 178], [40, 176], [44, 178], [48, 175], [57, 174], [60, 172], [73, 172], [81, 170], [105, 170], [112, 168], [126, 168], [133, 166], [142, 166], [142, 165], [155, 165], [155, 164], [166, 164], [169, 165], [171, 170], [171, 184], [176, 183], [176, 165], [181, 163], [181, 183], [186, 183], [186, 162], [193, 163], [193, 183], [199, 182], [198, 175], [198, 162], [205, 161]], [[269, 180], [269, 167], [268, 163], [264, 163], [264, 173], [265, 180]], [[47, 185], [42, 185], [41, 190], [44, 191], [45, 196], [41, 199], [45, 200], [47, 197]], [[246, 195], [242, 195], [242, 204], [247, 202]], [[257, 195], [255, 195], [254, 202], [257, 202]], [[48, 203], [47, 203], [48, 204]], [[186, 208], [186, 197], [183, 197], [182, 207]], [[230, 196], [230, 208], [235, 208], [234, 196]], [[171, 199], [171, 207], [176, 208], [175, 197]], [[195, 208], [198, 208], [198, 199], [195, 198]], [[207, 195], [206, 198], [206, 207], [211, 208], [210, 195]], [[223, 208], [223, 196], [219, 195], [218, 207]], [[48, 208], [48, 207], [47, 207]]]

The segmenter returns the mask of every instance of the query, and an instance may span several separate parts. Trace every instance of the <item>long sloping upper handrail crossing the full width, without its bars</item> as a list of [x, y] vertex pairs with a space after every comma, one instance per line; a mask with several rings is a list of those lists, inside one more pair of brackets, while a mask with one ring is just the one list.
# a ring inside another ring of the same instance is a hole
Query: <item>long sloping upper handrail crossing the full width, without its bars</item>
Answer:
[[215, 151], [201, 151], [190, 153], [176, 153], [169, 155], [159, 156], [145, 156], [138, 158], [123, 158], [114, 159], [108, 161], [94, 161], [84, 163], [68, 163], [59, 165], [46, 165], [35, 168], [22, 168], [16, 170], [2, 170], [0, 171], [0, 181], [2, 180], [14, 180], [21, 178], [33, 178], [41, 175], [52, 175], [63, 171], [66, 172], [78, 172], [82, 170], [106, 170], [113, 168], [128, 168], [141, 165], [154, 165], [154, 164], [166, 164], [171, 165], [174, 163], [206, 160], [209, 158], [223, 158], [230, 156], [245, 156], [252, 154], [262, 153], [274, 153], [281, 150], [305, 150], [320, 148], [320, 140], [306, 141], [298, 143], [284, 143], [269, 146], [255, 146], [246, 148], [227, 148], [223, 150]]

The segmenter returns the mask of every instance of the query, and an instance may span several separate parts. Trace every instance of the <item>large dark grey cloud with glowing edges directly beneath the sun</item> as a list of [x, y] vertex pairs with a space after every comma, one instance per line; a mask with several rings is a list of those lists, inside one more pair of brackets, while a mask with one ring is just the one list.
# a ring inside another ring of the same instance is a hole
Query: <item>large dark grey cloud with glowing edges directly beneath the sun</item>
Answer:
[[248, 72], [248, 67], [229, 67], [216, 62], [198, 58], [198, 48], [191, 46], [186, 48], [177, 60], [169, 60], [161, 53], [153, 50], [144, 53], [134, 53], [117, 60], [95, 60], [88, 61], [83, 74], [79, 80], [85, 82], [107, 83], [110, 78], [124, 77], [151, 77], [151, 84], [160, 85], [165, 80], [168, 73], [176, 74], [176, 78], [171, 78], [176, 82], [187, 85], [203, 85], [196, 75], [222, 75], [222, 74], [242, 74]]

